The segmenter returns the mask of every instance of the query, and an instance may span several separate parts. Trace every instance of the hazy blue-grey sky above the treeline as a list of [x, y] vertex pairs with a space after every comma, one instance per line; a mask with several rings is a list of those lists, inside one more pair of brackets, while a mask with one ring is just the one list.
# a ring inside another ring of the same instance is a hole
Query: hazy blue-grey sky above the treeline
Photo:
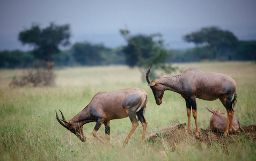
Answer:
[[0, 0], [0, 50], [27, 49], [18, 33], [32, 23], [70, 24], [71, 42], [126, 45], [119, 33], [162, 33], [168, 48], [187, 48], [182, 36], [201, 27], [218, 26], [240, 40], [256, 40], [256, 1], [60, 1]]

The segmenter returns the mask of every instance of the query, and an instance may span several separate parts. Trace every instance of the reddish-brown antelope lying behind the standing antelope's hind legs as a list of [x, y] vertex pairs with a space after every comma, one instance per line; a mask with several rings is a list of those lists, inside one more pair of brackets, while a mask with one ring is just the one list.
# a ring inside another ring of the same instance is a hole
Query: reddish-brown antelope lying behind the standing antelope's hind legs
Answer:
[[[208, 109], [209, 112], [213, 113], [213, 115], [210, 118], [210, 127], [208, 127], [207, 129], [210, 128], [212, 131], [215, 131], [215, 132], [225, 131], [228, 117], [222, 114], [226, 113], [226, 111], [218, 111], [218, 110], [214, 111], [207, 107], [206, 109]], [[236, 116], [233, 116], [231, 132], [236, 133], [238, 130], [242, 130], [243, 132], [245, 132], [244, 129], [240, 126], [240, 123], [237, 120]]]

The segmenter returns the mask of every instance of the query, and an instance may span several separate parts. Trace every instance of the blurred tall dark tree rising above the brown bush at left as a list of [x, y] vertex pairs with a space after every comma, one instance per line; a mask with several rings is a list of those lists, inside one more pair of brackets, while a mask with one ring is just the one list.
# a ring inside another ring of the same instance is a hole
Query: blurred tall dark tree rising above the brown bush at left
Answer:
[[43, 61], [51, 61], [53, 54], [60, 53], [59, 46], [69, 45], [69, 25], [55, 25], [50, 23], [46, 28], [40, 28], [33, 24], [30, 29], [19, 33], [19, 41], [23, 45], [31, 45], [35, 58]]

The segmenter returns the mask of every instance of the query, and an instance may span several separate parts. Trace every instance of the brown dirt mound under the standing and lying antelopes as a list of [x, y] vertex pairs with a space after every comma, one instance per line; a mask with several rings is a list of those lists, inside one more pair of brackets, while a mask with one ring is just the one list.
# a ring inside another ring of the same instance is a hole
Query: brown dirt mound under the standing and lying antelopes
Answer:
[[230, 134], [226, 138], [222, 138], [223, 133], [215, 133], [211, 130], [200, 129], [199, 138], [195, 138], [195, 129], [187, 134], [185, 125], [186, 123], [182, 123], [173, 127], [168, 127], [165, 129], [171, 130], [166, 131], [163, 129], [160, 131], [164, 131], [164, 133], [159, 133], [158, 131], [157, 133], [148, 135], [146, 138], [151, 143], [151, 145], [162, 144], [164, 139], [165, 142], [167, 142], [170, 147], [173, 148], [173, 150], [175, 150], [177, 145], [181, 142], [186, 142], [188, 144], [204, 143], [208, 146], [213, 144], [221, 144], [222, 147], [226, 149], [225, 147], [228, 147], [230, 143], [239, 142], [243, 138], [251, 141], [256, 140], [256, 126], [242, 127], [245, 130], [245, 133], [240, 132], [236, 134]]

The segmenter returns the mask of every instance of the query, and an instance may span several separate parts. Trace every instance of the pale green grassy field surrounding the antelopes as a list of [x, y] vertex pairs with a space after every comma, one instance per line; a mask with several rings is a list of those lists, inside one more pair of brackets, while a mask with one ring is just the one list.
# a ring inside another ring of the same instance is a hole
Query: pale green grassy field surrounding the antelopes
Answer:
[[[174, 66], [182, 71], [194, 67], [232, 77], [238, 93], [235, 115], [242, 126], [256, 125], [256, 63], [203, 62]], [[185, 100], [177, 93], [166, 91], [162, 105], [156, 105], [138, 69], [126, 66], [56, 69], [54, 87], [10, 88], [11, 78], [22, 72], [0, 70], [0, 160], [256, 160], [255, 138], [250, 139], [246, 134], [223, 140], [228, 142], [228, 147], [214, 141], [206, 145], [189, 137], [173, 149], [163, 138], [159, 138], [160, 144], [140, 145], [140, 125], [122, 148], [131, 128], [128, 118], [111, 121], [111, 145], [105, 146], [91, 135], [94, 122], [84, 125], [87, 141], [81, 142], [57, 122], [55, 110], [61, 109], [69, 120], [89, 104], [97, 92], [139, 87], [149, 95], [145, 112], [148, 135], [177, 123], [187, 123]], [[197, 99], [197, 104], [202, 129], [209, 126], [211, 117], [204, 107], [225, 109], [219, 100]], [[191, 122], [195, 129], [193, 117]], [[105, 137], [104, 127], [98, 135]]]

